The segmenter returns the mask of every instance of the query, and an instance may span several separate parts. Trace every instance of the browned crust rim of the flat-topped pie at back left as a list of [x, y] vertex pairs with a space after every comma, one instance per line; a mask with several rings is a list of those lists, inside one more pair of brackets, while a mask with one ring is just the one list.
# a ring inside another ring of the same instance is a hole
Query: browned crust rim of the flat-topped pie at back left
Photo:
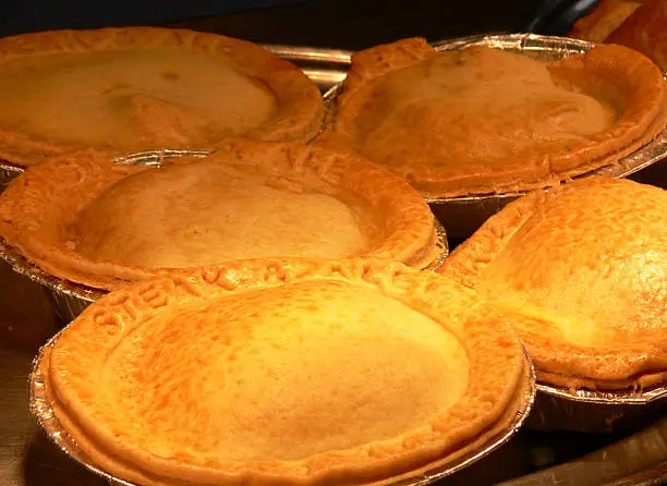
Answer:
[[[317, 86], [294, 64], [252, 42], [217, 34], [159, 27], [52, 31], [0, 39], [0, 64], [16, 58], [60, 52], [108, 51], [131, 47], [169, 46], [226, 56], [241, 73], [266, 85], [278, 109], [269, 122], [243, 136], [260, 141], [307, 142], [319, 131], [324, 105]], [[203, 73], [203, 75], [206, 75]], [[35, 107], [36, 110], [39, 107]], [[63, 111], [65, 108], [63, 108]], [[190, 147], [213, 149], [211, 147]], [[0, 158], [32, 166], [45, 157], [88, 148], [53, 143], [48, 137], [0, 129]], [[95, 147], [119, 155], [114, 147]], [[177, 147], [155, 147], [177, 148]], [[181, 147], [182, 148], [182, 147]]]

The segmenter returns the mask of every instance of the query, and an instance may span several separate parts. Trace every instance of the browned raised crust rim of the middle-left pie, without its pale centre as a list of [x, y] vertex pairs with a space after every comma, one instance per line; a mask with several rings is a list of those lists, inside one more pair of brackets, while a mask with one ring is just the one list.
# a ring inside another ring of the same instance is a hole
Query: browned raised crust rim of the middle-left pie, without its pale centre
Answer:
[[[288, 143], [234, 139], [210, 160], [256, 166], [295, 178], [318, 178], [367, 202], [381, 222], [366, 256], [423, 268], [438, 253], [433, 214], [408, 183], [357, 156]], [[93, 262], [66, 244], [70, 223], [113, 183], [147, 166], [120, 166], [92, 151], [57, 157], [28, 168], [0, 196], [0, 236], [56, 277], [112, 290], [153, 270]], [[276, 235], [279, 241], [279, 235]]]

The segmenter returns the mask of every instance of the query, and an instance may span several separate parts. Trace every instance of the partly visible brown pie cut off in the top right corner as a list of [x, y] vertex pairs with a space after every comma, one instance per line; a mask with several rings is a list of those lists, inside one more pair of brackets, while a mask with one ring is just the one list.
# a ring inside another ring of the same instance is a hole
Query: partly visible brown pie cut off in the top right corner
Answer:
[[667, 2], [603, 0], [568, 34], [595, 42], [628, 46], [667, 70]]

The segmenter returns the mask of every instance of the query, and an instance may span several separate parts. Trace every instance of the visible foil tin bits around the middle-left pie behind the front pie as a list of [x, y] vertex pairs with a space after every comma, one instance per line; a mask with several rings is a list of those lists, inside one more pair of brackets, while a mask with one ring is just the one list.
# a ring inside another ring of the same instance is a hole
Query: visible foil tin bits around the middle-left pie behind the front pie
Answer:
[[[165, 160], [177, 157], [206, 157], [213, 154], [210, 150], [148, 150], [130, 154], [113, 159], [116, 163], [141, 165], [160, 167]], [[428, 270], [437, 270], [449, 254], [447, 234], [445, 228], [434, 218], [437, 254], [433, 262], [426, 267]], [[0, 259], [5, 260], [12, 269], [28, 279], [44, 285], [51, 297], [57, 316], [61, 324], [74, 319], [88, 305], [107, 293], [106, 290], [96, 289], [70, 280], [58, 278], [28, 262], [23, 254], [13, 246], [7, 244], [0, 238]]]

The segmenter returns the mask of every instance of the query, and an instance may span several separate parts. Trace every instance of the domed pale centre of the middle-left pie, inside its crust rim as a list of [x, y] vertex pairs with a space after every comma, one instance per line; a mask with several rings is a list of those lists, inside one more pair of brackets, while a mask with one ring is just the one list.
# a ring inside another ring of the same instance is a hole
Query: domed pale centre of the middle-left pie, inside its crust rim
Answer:
[[145, 268], [344, 258], [372, 246], [373, 219], [367, 203], [324, 181], [195, 161], [111, 185], [77, 216], [71, 244], [93, 260]]

